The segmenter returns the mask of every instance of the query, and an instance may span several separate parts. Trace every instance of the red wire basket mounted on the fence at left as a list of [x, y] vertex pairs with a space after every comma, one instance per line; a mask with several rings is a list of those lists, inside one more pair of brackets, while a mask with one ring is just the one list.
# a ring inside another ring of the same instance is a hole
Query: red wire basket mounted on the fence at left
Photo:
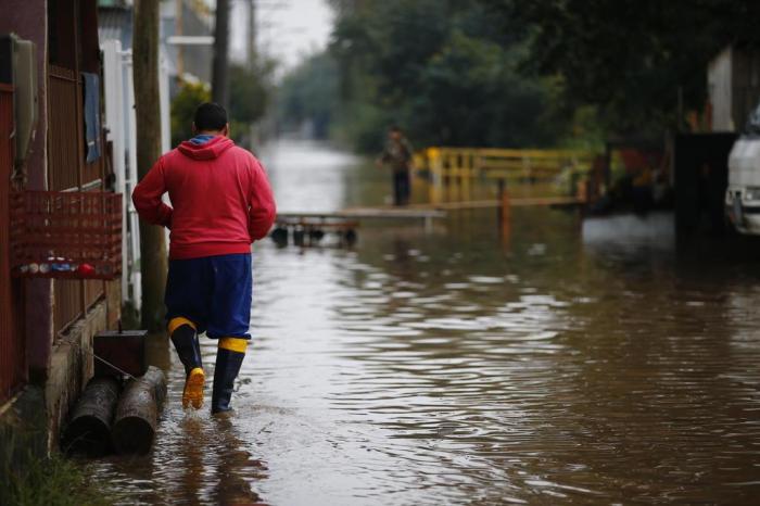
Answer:
[[122, 194], [13, 192], [11, 273], [56, 279], [121, 276]]

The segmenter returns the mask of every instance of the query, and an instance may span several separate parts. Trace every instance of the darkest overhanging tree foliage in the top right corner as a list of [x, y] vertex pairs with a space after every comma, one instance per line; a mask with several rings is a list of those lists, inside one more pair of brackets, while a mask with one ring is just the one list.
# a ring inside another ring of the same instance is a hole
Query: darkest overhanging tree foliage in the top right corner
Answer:
[[479, 0], [503, 29], [522, 24], [522, 69], [563, 81], [566, 109], [595, 105], [618, 134], [677, 127], [706, 101], [707, 64], [730, 43], [758, 45], [760, 3], [734, 0]]

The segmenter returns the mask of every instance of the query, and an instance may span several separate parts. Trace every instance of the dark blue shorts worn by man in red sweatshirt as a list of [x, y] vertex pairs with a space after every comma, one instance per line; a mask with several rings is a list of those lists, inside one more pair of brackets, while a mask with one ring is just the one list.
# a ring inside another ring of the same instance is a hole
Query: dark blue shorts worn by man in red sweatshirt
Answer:
[[251, 339], [251, 253], [172, 260], [166, 319], [189, 319], [212, 339]]

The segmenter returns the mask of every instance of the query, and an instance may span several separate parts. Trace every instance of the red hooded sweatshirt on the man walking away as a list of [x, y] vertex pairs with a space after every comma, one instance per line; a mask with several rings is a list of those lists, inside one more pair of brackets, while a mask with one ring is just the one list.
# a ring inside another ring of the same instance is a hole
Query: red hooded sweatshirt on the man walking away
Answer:
[[[169, 193], [173, 207], [161, 197]], [[262, 164], [231, 139], [185, 141], [164, 154], [135, 188], [142, 219], [172, 230], [169, 258], [250, 253], [275, 220]]]

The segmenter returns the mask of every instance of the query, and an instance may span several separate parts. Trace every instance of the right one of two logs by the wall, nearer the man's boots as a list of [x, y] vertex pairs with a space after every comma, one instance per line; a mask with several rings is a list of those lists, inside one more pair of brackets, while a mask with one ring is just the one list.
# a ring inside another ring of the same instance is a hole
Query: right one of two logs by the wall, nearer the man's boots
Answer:
[[165, 399], [166, 377], [161, 369], [151, 366], [143, 377], [129, 380], [111, 429], [117, 453], [144, 455], [150, 452]]

